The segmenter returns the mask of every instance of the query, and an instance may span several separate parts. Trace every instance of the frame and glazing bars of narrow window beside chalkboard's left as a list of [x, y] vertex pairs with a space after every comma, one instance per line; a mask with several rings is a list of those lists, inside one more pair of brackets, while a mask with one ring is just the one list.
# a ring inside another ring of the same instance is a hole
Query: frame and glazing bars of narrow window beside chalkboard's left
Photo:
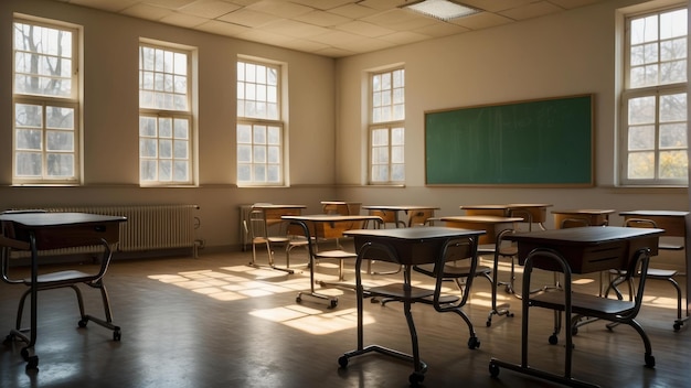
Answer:
[[[402, 109], [402, 117], [396, 118], [395, 117], [395, 108], [394, 106], [395, 100], [394, 100], [394, 85], [393, 85], [393, 78], [394, 78], [394, 73], [395, 72], [403, 72], [403, 103], [398, 104], [402, 105], [401, 109]], [[389, 109], [391, 110], [390, 114], [390, 120], [379, 120], [375, 121], [375, 114], [374, 110], [375, 108], [382, 107], [383, 105], [378, 105], [375, 107], [375, 93], [378, 90], [374, 89], [374, 77], [376, 76], [381, 76], [384, 74], [390, 74], [392, 77], [392, 86], [391, 86], [391, 104], [386, 104], [386, 106], [389, 107]], [[401, 185], [405, 183], [405, 67], [403, 65], [396, 65], [396, 66], [392, 66], [392, 67], [387, 67], [387, 68], [381, 68], [381, 69], [376, 69], [376, 71], [372, 71], [368, 74], [368, 96], [369, 96], [369, 125], [368, 125], [368, 184], [369, 185]], [[387, 143], [386, 147], [387, 148], [387, 160], [383, 163], [378, 163], [378, 159], [375, 157], [375, 152], [381, 150], [383, 147], [381, 144], [375, 144], [374, 143], [374, 132], [375, 131], [380, 131], [380, 130], [386, 130], [386, 134], [387, 134]], [[394, 144], [393, 142], [393, 131], [396, 129], [402, 129], [403, 131], [403, 143], [402, 144]], [[401, 158], [402, 161], [401, 162], [394, 162], [394, 149], [396, 147], [400, 147], [403, 149], [402, 153], [401, 153]], [[387, 171], [386, 175], [386, 180], [374, 180], [374, 170], [378, 166], [384, 166], [384, 169]], [[401, 173], [403, 174], [403, 177], [400, 180], [395, 180], [393, 179], [393, 174], [394, 174], [394, 170], [398, 170], [401, 171]]]

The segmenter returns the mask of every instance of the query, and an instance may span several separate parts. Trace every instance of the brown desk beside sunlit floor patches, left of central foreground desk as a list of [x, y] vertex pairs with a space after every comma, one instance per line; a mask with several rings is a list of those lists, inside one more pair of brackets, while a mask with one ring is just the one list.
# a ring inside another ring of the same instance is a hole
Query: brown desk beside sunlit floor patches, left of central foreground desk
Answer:
[[[343, 231], [349, 229], [360, 229], [359, 225], [362, 222], [373, 220], [380, 222], [381, 218], [376, 216], [368, 216], [368, 215], [350, 215], [343, 216], [338, 214], [312, 214], [312, 215], [288, 215], [281, 217], [285, 220], [291, 223], [298, 223], [308, 230], [309, 236], [307, 239], [315, 241], [318, 244], [319, 239], [325, 238], [339, 238], [343, 237]], [[336, 308], [338, 305], [338, 298], [325, 295], [315, 291], [315, 257], [312, 255], [311, 245], [310, 245], [310, 255], [309, 255], [309, 283], [310, 283], [310, 292], [309, 295], [328, 300], [330, 302], [330, 308]], [[304, 293], [300, 291], [296, 298], [296, 301], [299, 303], [302, 301]]]

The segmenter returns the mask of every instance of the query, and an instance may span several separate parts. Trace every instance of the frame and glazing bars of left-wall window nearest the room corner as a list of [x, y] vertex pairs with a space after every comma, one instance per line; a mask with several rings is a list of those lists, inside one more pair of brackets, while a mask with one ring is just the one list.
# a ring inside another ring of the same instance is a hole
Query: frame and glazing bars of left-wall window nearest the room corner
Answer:
[[[237, 72], [240, 65], [243, 64], [252, 64], [264, 66], [267, 68], [273, 68], [276, 71], [276, 118], [267, 118], [267, 117], [254, 117], [254, 116], [242, 116], [242, 111], [246, 111], [245, 108], [241, 109], [240, 105], [245, 104], [248, 99], [241, 98], [240, 96], [240, 86], [241, 83], [245, 83], [246, 79], [242, 78], [241, 75], [236, 73], [235, 78], [235, 88], [236, 88], [236, 123], [235, 123], [235, 147], [236, 147], [236, 184], [238, 187], [261, 187], [261, 186], [287, 186], [288, 185], [288, 176], [287, 176], [287, 149], [286, 149], [286, 127], [287, 123], [284, 121], [284, 106], [285, 106], [285, 97], [283, 95], [284, 84], [285, 84], [285, 72], [286, 64], [278, 63], [269, 60], [247, 57], [243, 55], [238, 55], [235, 61], [235, 69]], [[244, 93], [244, 91], [243, 91]], [[256, 99], [255, 99], [256, 100]], [[252, 128], [251, 137], [252, 140], [242, 141], [241, 140], [241, 129], [242, 127], [249, 126]], [[278, 139], [277, 139], [277, 148], [278, 155], [275, 161], [269, 160], [268, 152], [266, 152], [264, 157], [264, 161], [255, 161], [255, 153], [262, 151], [262, 149], [268, 151], [269, 148], [268, 140], [266, 142], [255, 142], [254, 141], [254, 128], [255, 127], [275, 127], [278, 128]], [[247, 152], [242, 152], [241, 148], [249, 147], [249, 160], [242, 160], [243, 155]], [[272, 166], [276, 166], [276, 169], [272, 169]], [[248, 172], [241, 172], [241, 169], [246, 169]], [[264, 170], [264, 177], [257, 179], [257, 172], [259, 170]], [[269, 170], [275, 170], [279, 175], [277, 180], [269, 180]], [[248, 173], [249, 180], [241, 180], [241, 176]]]

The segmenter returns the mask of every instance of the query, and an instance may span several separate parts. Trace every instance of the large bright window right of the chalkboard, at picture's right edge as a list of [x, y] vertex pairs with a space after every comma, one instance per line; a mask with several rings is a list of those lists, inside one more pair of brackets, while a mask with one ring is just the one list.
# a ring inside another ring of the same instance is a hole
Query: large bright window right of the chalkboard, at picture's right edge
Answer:
[[627, 19], [621, 184], [688, 184], [687, 9]]

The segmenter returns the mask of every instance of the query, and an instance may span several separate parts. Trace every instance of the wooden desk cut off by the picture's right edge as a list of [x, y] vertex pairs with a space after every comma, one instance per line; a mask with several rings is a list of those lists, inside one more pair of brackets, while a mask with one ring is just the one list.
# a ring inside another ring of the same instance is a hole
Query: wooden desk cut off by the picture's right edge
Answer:
[[[689, 247], [689, 236], [687, 234], [687, 222], [689, 218], [689, 212], [677, 212], [677, 211], [629, 211], [629, 212], [619, 212], [620, 216], [624, 216], [624, 219], [627, 220], [629, 218], [646, 218], [655, 222], [658, 228], [665, 229], [662, 237], [682, 237], [683, 238], [683, 250], [684, 250], [684, 261], [685, 261], [685, 273], [689, 273], [689, 268], [691, 268], [691, 251], [688, 249]], [[660, 246], [662, 247], [662, 245]], [[687, 279], [687, 289], [685, 295], [687, 299], [687, 314], [682, 319], [674, 321], [674, 330], [679, 330], [681, 325], [683, 325], [689, 319], [689, 310], [691, 303], [689, 303], [689, 295], [691, 295], [691, 282]]]

